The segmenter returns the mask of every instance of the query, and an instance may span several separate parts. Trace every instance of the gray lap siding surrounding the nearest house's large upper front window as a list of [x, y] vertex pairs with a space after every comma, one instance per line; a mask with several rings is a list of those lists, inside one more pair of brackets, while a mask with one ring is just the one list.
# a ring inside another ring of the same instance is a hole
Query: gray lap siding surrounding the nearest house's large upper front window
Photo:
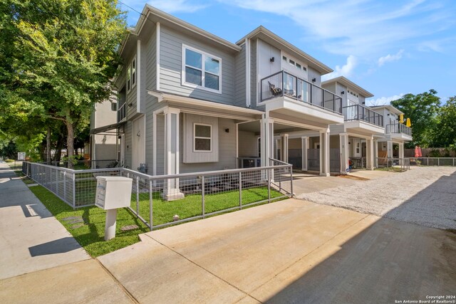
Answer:
[[[182, 85], [182, 43], [222, 58], [222, 94]], [[161, 26], [160, 31], [160, 90], [217, 103], [234, 103], [234, 56], [207, 46], [189, 36]]]

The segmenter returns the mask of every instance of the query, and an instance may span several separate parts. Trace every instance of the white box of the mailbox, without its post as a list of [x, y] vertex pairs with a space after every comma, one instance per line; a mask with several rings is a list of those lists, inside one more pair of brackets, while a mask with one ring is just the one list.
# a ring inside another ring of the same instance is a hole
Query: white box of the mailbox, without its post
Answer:
[[105, 210], [130, 206], [132, 182], [128, 177], [97, 177], [95, 205]]

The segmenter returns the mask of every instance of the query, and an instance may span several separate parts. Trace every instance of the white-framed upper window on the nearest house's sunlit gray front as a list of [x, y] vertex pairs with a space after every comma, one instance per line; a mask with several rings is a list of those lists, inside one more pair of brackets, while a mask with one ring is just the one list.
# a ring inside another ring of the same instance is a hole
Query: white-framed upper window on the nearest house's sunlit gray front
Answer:
[[182, 85], [222, 93], [222, 59], [182, 46]]

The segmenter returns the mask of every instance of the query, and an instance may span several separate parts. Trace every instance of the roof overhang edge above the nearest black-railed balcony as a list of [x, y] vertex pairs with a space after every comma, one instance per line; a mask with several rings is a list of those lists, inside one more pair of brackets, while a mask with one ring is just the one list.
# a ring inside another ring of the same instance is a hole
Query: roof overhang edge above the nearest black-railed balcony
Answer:
[[242, 39], [237, 41], [237, 45], [242, 45], [244, 43], [246, 38], [261, 38], [261, 40], [264, 40], [268, 43], [271, 43], [272, 45], [276, 44], [279, 46], [279, 48], [283, 49], [286, 51], [286, 53], [290, 53], [291, 56], [297, 57], [296, 59], [304, 59], [306, 63], [309, 64], [311, 68], [314, 68], [315, 70], [318, 70], [322, 75], [331, 73], [333, 70], [329, 68], [327, 65], [324, 65], [320, 61], [316, 60], [314, 57], [310, 56], [308, 53], [305, 53], [304, 51], [301, 51], [298, 47], [292, 45], [288, 41], [286, 41], [284, 38], [280, 38], [277, 36], [275, 33], [272, 33], [269, 31], [269, 29], [265, 28], [264, 26], [259, 26], [255, 28], [253, 31], [248, 33], [246, 36], [244, 36]]

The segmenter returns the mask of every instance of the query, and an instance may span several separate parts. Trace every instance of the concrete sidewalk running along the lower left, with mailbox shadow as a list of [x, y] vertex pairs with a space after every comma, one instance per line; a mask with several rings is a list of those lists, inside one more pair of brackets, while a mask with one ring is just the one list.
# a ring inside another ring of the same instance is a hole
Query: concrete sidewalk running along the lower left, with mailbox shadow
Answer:
[[7, 164], [0, 231], [0, 303], [132, 303]]

